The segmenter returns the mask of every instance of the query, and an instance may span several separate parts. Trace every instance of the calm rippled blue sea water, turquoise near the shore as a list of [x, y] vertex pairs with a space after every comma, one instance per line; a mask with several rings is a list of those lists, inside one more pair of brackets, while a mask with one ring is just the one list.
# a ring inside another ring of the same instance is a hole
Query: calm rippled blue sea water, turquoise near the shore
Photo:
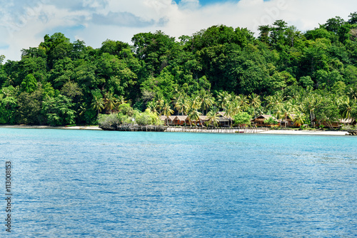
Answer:
[[13, 237], [354, 237], [356, 145], [342, 136], [0, 129], [0, 184], [11, 161]]

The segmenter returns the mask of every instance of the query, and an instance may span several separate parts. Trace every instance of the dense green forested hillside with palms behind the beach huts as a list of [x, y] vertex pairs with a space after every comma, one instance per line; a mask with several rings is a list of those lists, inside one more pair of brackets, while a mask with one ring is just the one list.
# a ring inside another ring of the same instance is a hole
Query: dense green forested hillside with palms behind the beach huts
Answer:
[[356, 12], [306, 32], [278, 20], [259, 26], [257, 38], [211, 26], [178, 39], [138, 33], [132, 45], [106, 40], [95, 49], [54, 33], [23, 49], [21, 61], [4, 58], [1, 124], [96, 124], [99, 113], [131, 108], [191, 118], [293, 113], [297, 125], [357, 118]]

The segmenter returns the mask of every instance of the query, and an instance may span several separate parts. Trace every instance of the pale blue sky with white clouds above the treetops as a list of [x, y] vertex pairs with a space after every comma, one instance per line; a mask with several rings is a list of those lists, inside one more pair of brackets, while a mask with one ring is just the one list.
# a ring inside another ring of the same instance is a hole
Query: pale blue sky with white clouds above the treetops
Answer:
[[307, 31], [354, 11], [356, 0], [0, 0], [0, 55], [19, 61], [22, 48], [56, 32], [99, 48], [106, 39], [131, 43], [136, 33], [178, 38], [221, 24], [257, 33], [278, 19]]

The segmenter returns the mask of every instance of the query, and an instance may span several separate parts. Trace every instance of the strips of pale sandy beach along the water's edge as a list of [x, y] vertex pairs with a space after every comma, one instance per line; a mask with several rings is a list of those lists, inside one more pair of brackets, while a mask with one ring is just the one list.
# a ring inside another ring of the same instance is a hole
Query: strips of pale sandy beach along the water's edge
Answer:
[[[1, 128], [24, 128], [24, 129], [64, 129], [64, 130], [103, 130], [97, 125], [75, 125], [71, 127], [66, 126], [51, 126], [51, 125], [0, 125]], [[193, 128], [191, 129], [193, 130]], [[180, 130], [170, 130], [169, 132], [183, 132]], [[194, 132], [194, 131], [193, 131]], [[198, 131], [197, 131], [198, 132]], [[212, 133], [226, 133], [224, 131], [216, 131]], [[271, 135], [348, 135], [345, 130], [263, 130], [256, 133], [244, 134], [271, 134]]]

